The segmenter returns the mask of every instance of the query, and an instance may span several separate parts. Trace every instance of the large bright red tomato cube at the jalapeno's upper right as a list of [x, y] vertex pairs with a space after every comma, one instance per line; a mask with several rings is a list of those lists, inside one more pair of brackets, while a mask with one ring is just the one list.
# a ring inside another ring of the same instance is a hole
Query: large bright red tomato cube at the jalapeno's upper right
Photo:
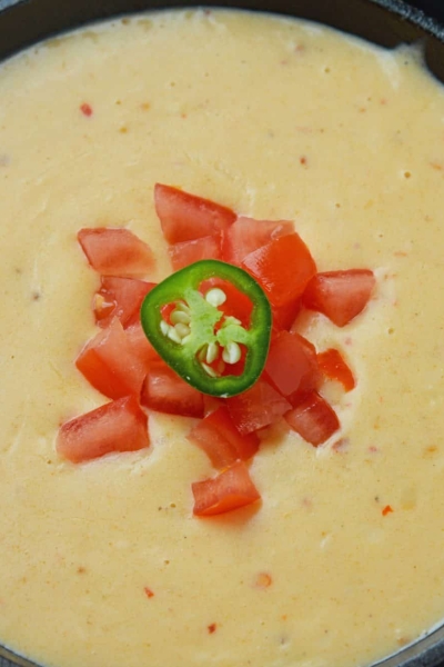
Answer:
[[316, 272], [307, 247], [295, 232], [250, 252], [242, 267], [261, 283], [272, 306], [293, 302]]

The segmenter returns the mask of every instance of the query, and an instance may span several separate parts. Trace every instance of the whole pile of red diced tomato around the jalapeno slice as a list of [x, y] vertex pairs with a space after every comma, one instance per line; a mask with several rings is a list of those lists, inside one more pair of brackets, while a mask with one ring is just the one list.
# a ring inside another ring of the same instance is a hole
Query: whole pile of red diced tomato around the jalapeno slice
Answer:
[[[173, 270], [219, 259], [240, 266], [262, 286], [273, 311], [265, 369], [251, 389], [228, 399], [204, 396], [186, 384], [159, 357], [141, 327], [140, 307], [154, 287], [143, 279], [153, 268], [150, 247], [125, 228], [81, 229], [80, 246], [100, 276], [92, 300], [99, 331], [75, 366], [111, 400], [64, 422], [57, 447], [77, 464], [149, 447], [152, 410], [193, 418], [190, 446], [200, 447], [218, 470], [192, 484], [193, 511], [212, 516], [260, 499], [248, 464], [263, 429], [284, 419], [314, 447], [340, 429], [320, 389], [333, 379], [350, 391], [355, 378], [337, 349], [319, 352], [297, 332], [297, 316], [303, 308], [315, 310], [344, 327], [365, 308], [375, 278], [361, 268], [317, 272], [290, 221], [236, 216], [164, 185], [155, 186], [154, 202]], [[231, 300], [230, 308], [242, 312], [244, 305]]]

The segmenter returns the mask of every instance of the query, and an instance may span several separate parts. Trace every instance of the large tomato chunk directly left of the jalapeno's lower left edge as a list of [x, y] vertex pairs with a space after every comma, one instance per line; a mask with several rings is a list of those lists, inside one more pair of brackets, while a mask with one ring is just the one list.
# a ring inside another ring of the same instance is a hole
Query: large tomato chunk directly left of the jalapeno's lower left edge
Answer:
[[117, 318], [85, 345], [75, 366], [95, 389], [109, 398], [131, 394], [139, 396], [148, 372]]

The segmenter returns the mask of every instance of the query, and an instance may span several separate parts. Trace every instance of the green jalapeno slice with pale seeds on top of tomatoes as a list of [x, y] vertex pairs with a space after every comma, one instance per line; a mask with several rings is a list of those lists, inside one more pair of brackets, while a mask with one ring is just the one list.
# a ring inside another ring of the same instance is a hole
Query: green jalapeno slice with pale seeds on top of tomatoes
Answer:
[[[222, 287], [202, 290], [214, 278]], [[251, 302], [246, 325], [224, 307], [224, 282]], [[254, 278], [223, 261], [198, 261], [169, 276], [147, 295], [141, 322], [162, 359], [203, 394], [223, 398], [241, 394], [264, 368], [272, 328], [270, 302]], [[236, 375], [231, 372], [234, 368]]]

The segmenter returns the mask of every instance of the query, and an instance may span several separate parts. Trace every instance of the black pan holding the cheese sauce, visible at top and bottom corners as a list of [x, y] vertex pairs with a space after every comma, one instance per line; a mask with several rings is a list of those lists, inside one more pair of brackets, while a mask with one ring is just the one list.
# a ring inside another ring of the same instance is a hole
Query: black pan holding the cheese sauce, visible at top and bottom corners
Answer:
[[[77, 0], [72, 3], [53, 0], [0, 0], [0, 59], [41, 39], [91, 21], [127, 12], [189, 4], [192, 2], [184, 0]], [[333, 26], [387, 48], [421, 41], [428, 68], [444, 81], [444, 30], [436, 20], [398, 0], [221, 0], [208, 1], [205, 4], [272, 10], [296, 16]], [[430, 3], [428, 7], [440, 11], [438, 4], [433, 7]], [[442, 8], [441, 12], [443, 13]], [[29, 660], [14, 656], [4, 648], [0, 648], [0, 667], [33, 667]], [[379, 663], [380, 667], [440, 665], [444, 665], [444, 628], [431, 631], [414, 645]]]

